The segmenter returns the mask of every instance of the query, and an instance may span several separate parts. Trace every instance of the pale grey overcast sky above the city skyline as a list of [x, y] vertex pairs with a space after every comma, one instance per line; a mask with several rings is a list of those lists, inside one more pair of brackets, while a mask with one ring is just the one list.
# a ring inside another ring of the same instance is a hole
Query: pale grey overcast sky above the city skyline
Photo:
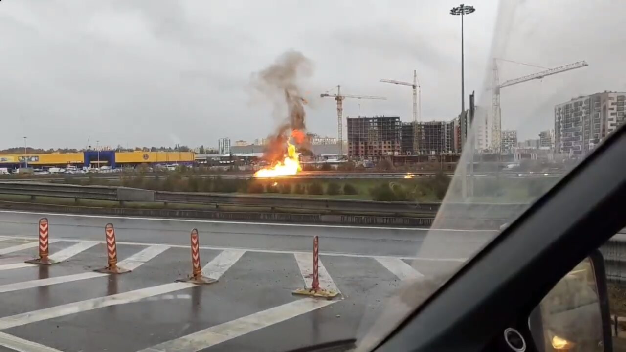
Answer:
[[[465, 18], [466, 93], [482, 94], [493, 56], [587, 68], [504, 88], [503, 128], [520, 140], [553, 127], [553, 106], [572, 96], [626, 90], [626, 1], [475, 0]], [[460, 19], [456, 1], [4, 0], [0, 3], [0, 148], [215, 146], [275, 130], [272, 102], [252, 97], [250, 77], [289, 49], [313, 63], [302, 80], [309, 132], [336, 137], [336, 105], [319, 94], [386, 96], [350, 100], [345, 116], [410, 121], [418, 71], [422, 120], [460, 111]], [[500, 19], [500, 21], [498, 21]], [[496, 24], [497, 23], [497, 24]], [[496, 36], [494, 36], [494, 33]], [[541, 68], [502, 62], [500, 80]], [[467, 102], [466, 102], [467, 103]]]

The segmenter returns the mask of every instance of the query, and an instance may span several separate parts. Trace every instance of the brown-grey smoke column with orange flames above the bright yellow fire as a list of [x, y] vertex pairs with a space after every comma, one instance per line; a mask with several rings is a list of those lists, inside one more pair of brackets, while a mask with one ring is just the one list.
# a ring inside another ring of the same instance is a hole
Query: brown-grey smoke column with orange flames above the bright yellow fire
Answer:
[[[290, 138], [299, 149], [308, 145], [305, 135], [306, 100], [298, 81], [311, 73], [311, 61], [299, 51], [292, 50], [280, 55], [269, 67], [252, 75], [255, 90], [272, 101], [275, 114], [282, 115], [282, 122], [276, 132], [268, 137], [265, 160], [272, 163], [283, 160]], [[287, 116], [284, 116], [285, 107]]]

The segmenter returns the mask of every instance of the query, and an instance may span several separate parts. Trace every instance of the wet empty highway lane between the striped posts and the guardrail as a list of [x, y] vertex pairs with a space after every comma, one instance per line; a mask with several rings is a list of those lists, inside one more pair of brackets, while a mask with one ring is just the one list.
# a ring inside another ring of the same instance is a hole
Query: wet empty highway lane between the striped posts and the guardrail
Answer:
[[[428, 229], [353, 227], [337, 225], [270, 224], [190, 219], [151, 219], [98, 215], [35, 214], [0, 212], [0, 235], [35, 236], [36, 224], [48, 217], [51, 236], [61, 239], [104, 239], [104, 226], [111, 222], [118, 241], [187, 245], [189, 232], [200, 232], [203, 246], [277, 251], [310, 251], [312, 237], [321, 239], [321, 252], [371, 256], [414, 257]], [[433, 230], [442, 242], [461, 241], [451, 246], [448, 258], [468, 257], [493, 236], [493, 231]], [[421, 254], [428, 257], [428, 254]]]

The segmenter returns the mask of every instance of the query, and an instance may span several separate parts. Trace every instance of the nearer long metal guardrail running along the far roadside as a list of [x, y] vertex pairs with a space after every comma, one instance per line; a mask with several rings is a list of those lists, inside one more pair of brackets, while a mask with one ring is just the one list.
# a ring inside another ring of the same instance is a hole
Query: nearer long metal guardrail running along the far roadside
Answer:
[[[233, 195], [218, 193], [165, 192], [128, 187], [80, 186], [0, 182], [0, 194], [30, 195], [31, 197], [61, 197], [71, 199], [112, 200], [118, 202], [164, 202], [183, 204], [237, 205], [329, 212], [362, 212], [376, 214], [419, 214], [434, 216], [438, 202], [377, 202], [374, 200], [316, 199], [272, 197], [262, 195]], [[473, 219], [510, 219], [520, 214], [528, 204], [463, 204], [447, 203], [446, 214]]]

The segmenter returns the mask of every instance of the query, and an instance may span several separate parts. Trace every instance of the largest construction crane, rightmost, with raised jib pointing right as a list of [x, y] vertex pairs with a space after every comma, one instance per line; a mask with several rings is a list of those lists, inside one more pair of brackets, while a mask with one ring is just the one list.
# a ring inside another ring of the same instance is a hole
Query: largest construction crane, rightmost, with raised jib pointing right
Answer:
[[500, 138], [501, 138], [500, 133], [501, 133], [501, 122], [502, 122], [502, 117], [500, 114], [501, 113], [501, 110], [500, 110], [500, 89], [501, 88], [506, 87], [506, 86], [516, 85], [518, 83], [522, 83], [526, 81], [540, 80], [541, 78], [544, 78], [545, 76], [555, 75], [557, 73], [575, 70], [577, 68], [581, 68], [585, 66], [589, 66], [587, 62], [578, 61], [575, 63], [570, 63], [568, 65], [558, 66], [555, 68], [550, 68], [545, 71], [536, 72], [531, 75], [514, 78], [513, 80], [508, 80], [500, 84], [499, 77], [498, 77], [498, 63], [496, 62], [496, 59], [493, 59], [492, 86], [494, 90], [493, 90], [493, 96], [491, 98], [491, 108], [492, 108], [492, 113], [493, 113], [493, 125], [491, 127], [491, 135], [492, 135], [491, 136], [491, 149], [493, 150], [493, 152], [500, 153]]

